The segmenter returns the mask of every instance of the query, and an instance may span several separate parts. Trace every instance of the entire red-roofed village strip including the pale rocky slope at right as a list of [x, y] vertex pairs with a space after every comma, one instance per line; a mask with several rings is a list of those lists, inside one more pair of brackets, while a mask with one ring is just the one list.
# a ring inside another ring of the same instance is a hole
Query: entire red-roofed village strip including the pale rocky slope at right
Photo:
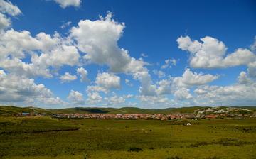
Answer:
[[[35, 111], [35, 110], [34, 110]], [[230, 113], [233, 111], [233, 113]], [[244, 111], [239, 113], [238, 111]], [[223, 118], [236, 118], [242, 119], [242, 117], [255, 117], [256, 112], [252, 112], [249, 109], [233, 107], [220, 108], [202, 108], [193, 111], [193, 113], [171, 112], [169, 114], [107, 114], [107, 113], [36, 113], [36, 112], [23, 112], [18, 113], [16, 116], [51, 116], [53, 118], [75, 118], [75, 119], [154, 119], [154, 120], [174, 120], [174, 119], [223, 119]]]

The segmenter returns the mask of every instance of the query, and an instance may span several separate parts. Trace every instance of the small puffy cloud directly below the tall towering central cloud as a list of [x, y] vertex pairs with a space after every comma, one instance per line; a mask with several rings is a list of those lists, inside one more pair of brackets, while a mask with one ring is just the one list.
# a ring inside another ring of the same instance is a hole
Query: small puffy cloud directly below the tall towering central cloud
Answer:
[[98, 73], [95, 83], [97, 84], [96, 86], [87, 87], [87, 92], [92, 91], [92, 92], [107, 93], [110, 91], [110, 89], [117, 89], [117, 90], [122, 89], [120, 77], [112, 73], [107, 73], [107, 72]]

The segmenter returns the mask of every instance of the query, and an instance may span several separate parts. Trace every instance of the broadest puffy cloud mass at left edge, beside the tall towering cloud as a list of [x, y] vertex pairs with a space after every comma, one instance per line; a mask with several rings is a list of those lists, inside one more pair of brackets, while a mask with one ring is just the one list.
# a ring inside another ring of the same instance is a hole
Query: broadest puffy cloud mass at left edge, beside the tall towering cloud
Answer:
[[[58, 33], [53, 38], [46, 33], [39, 33], [33, 38], [28, 31], [10, 29], [1, 32], [0, 39], [0, 67], [18, 76], [52, 78], [50, 72], [63, 65], [80, 65], [78, 50], [68, 45], [68, 40], [60, 38]], [[41, 55], [33, 50], [38, 50]], [[31, 63], [21, 60], [26, 57], [25, 53], [30, 53]], [[53, 70], [49, 69], [50, 66]]]

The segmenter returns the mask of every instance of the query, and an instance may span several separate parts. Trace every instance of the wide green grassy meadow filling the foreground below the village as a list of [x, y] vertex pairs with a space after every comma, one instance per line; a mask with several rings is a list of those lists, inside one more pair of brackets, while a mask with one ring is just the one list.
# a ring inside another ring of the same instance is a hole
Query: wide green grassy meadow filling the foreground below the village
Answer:
[[9, 117], [0, 125], [0, 158], [256, 158], [256, 118]]

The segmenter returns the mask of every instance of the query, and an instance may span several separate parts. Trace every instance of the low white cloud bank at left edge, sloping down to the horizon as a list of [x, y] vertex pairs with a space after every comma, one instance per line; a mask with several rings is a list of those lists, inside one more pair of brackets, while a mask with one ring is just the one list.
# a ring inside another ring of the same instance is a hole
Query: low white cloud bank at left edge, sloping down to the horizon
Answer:
[[43, 84], [35, 84], [34, 79], [6, 75], [3, 70], [0, 70], [0, 79], [1, 102], [23, 102], [26, 106], [37, 106], [39, 102], [48, 106], [68, 106], [68, 102], [59, 97], [53, 98], [53, 92]]

